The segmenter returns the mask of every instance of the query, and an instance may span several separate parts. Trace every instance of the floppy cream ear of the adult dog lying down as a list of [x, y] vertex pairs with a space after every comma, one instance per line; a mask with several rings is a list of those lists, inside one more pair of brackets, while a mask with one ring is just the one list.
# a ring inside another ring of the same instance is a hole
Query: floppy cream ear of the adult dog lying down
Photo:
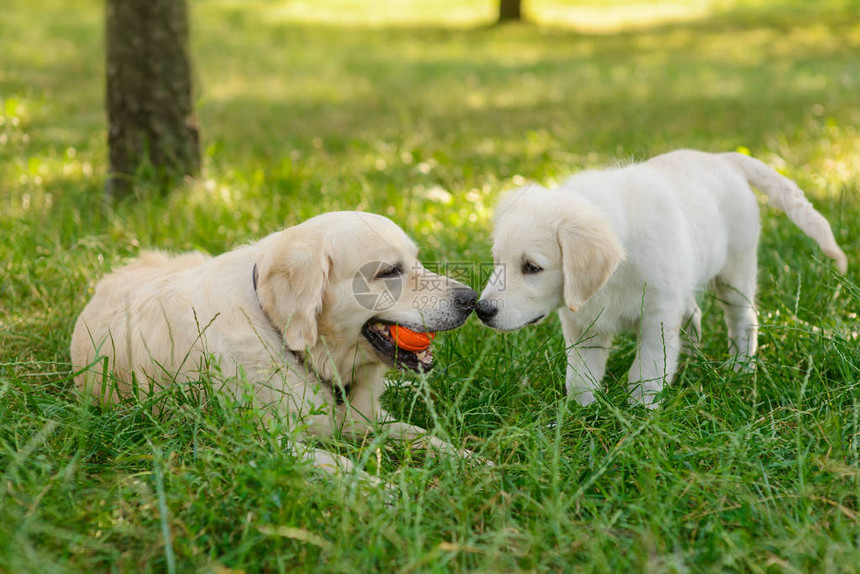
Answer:
[[313, 347], [331, 261], [321, 238], [282, 232], [257, 262], [257, 296], [263, 311], [293, 351]]

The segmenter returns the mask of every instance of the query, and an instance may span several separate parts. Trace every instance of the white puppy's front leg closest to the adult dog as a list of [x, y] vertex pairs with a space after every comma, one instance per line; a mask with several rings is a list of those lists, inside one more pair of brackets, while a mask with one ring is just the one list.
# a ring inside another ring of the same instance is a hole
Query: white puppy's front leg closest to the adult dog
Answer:
[[594, 402], [594, 390], [600, 387], [606, 373], [612, 335], [583, 333], [570, 315], [567, 309], [559, 311], [567, 347], [564, 386], [568, 396], [586, 406]]

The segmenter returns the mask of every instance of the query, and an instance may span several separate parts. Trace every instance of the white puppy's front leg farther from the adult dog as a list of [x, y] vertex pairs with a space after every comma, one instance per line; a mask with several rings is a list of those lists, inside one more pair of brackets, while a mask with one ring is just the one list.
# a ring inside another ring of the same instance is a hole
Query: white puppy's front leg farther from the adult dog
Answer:
[[630, 402], [656, 408], [655, 396], [665, 382], [672, 382], [681, 350], [680, 317], [661, 320], [643, 317], [639, 325], [639, 348], [627, 375]]

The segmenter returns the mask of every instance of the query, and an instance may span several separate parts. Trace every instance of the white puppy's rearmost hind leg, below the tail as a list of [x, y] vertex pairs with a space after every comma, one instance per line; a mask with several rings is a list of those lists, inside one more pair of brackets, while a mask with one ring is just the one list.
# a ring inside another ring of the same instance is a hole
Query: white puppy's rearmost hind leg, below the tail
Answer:
[[755, 311], [757, 256], [750, 251], [735, 257], [717, 277], [716, 291], [729, 331], [729, 350], [737, 358], [735, 370], [749, 365], [758, 347]]

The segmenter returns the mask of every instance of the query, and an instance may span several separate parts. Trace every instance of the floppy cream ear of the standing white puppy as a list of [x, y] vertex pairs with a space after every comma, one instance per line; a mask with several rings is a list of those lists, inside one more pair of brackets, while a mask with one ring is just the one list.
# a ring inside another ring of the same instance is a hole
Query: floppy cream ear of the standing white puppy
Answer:
[[601, 213], [589, 211], [562, 219], [557, 230], [564, 304], [573, 312], [603, 287], [624, 260], [624, 249], [609, 221]]

